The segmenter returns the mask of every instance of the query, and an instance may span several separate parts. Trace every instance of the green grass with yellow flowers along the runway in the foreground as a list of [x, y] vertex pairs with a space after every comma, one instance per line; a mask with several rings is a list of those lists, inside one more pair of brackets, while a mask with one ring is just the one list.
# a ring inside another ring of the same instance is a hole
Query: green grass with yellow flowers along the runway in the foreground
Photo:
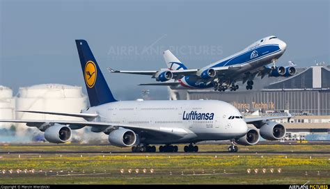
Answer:
[[[200, 145], [207, 153], [189, 154], [0, 154], [0, 184], [46, 183], [330, 183], [330, 153], [285, 154], [285, 151], [329, 152], [327, 145], [256, 145], [239, 146], [248, 153], [216, 153], [227, 145]], [[180, 146], [182, 148], [182, 146]], [[129, 149], [128, 149], [129, 150]], [[1, 146], [8, 151], [128, 151], [106, 145], [26, 145]], [[265, 154], [279, 151], [281, 154]], [[284, 151], [284, 152], [283, 152]], [[282, 154], [284, 153], [284, 154]], [[82, 157], [81, 157], [82, 155]], [[19, 157], [20, 156], [20, 157]], [[147, 157], [148, 156], [148, 157]], [[217, 158], [216, 158], [217, 156]], [[286, 156], [286, 157], [285, 157]], [[312, 156], [312, 158], [310, 158]], [[261, 172], [262, 168], [267, 171]], [[274, 169], [274, 173], [269, 170]], [[278, 169], [281, 168], [281, 173]], [[16, 173], [16, 170], [36, 173]], [[124, 174], [120, 170], [125, 170]], [[132, 169], [132, 173], [127, 170]], [[139, 174], [134, 172], [139, 169]], [[146, 169], [147, 173], [142, 170]], [[150, 173], [150, 169], [154, 172]], [[258, 169], [258, 174], [252, 172]], [[13, 170], [10, 174], [8, 170]], [[39, 173], [39, 170], [42, 172]], [[52, 172], [49, 172], [52, 170]], [[226, 170], [226, 173], [224, 172]], [[47, 175], [45, 175], [47, 172]], [[58, 175], [56, 175], [58, 172]], [[70, 175], [68, 175], [70, 172]], [[84, 173], [83, 173], [84, 172]], [[94, 173], [95, 172], [95, 173]], [[171, 172], [171, 174], [170, 174]], [[182, 175], [183, 172], [183, 175]], [[307, 175], [305, 175], [307, 172]], [[320, 174], [317, 174], [317, 173]], [[195, 173], [195, 175], [194, 175]], [[79, 175], [74, 175], [79, 174]], [[196, 175], [198, 174], [198, 175]]]

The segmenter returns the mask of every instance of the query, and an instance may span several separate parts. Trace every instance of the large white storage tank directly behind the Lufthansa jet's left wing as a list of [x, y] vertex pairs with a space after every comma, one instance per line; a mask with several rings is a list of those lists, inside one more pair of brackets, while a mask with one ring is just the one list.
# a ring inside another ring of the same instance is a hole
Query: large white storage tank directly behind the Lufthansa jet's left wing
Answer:
[[[62, 84], [42, 84], [31, 87], [19, 88], [16, 99], [16, 110], [39, 110], [65, 113], [80, 113], [86, 108], [86, 95], [82, 93], [80, 86]], [[36, 113], [16, 112], [19, 120], [77, 120], [80, 117], [68, 117], [60, 115], [47, 115]], [[18, 124], [17, 131], [24, 133], [29, 126]], [[72, 135], [74, 137], [74, 135]]]

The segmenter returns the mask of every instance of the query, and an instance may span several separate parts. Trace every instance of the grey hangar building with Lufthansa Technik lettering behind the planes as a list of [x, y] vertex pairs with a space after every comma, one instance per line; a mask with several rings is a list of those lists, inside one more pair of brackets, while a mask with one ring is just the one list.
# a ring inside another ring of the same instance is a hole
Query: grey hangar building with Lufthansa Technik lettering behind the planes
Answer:
[[[242, 82], [241, 82], [242, 83]], [[256, 78], [256, 90], [239, 85], [235, 92], [214, 90], [169, 90], [170, 99], [217, 99], [227, 101], [246, 116], [259, 110], [263, 115], [291, 113], [295, 117], [276, 120], [288, 133], [326, 133], [330, 138], [330, 66], [324, 63], [298, 68], [288, 78]], [[258, 86], [259, 85], [259, 88]], [[261, 87], [260, 87], [261, 86]]]

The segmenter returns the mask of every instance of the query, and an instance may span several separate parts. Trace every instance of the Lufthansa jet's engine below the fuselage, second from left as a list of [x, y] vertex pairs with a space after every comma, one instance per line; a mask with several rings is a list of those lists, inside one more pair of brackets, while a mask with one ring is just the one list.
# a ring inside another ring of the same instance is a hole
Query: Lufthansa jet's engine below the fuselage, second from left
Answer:
[[129, 129], [116, 129], [109, 133], [109, 142], [117, 147], [131, 147], [136, 142], [136, 134]]

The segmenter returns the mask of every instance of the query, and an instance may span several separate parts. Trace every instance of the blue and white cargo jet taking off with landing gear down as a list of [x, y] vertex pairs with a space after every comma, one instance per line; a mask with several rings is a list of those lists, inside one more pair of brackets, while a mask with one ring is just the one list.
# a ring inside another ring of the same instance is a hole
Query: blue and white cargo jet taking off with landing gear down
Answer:
[[[276, 60], [286, 49], [282, 40], [272, 35], [262, 38], [242, 51], [223, 58], [200, 69], [187, 69], [171, 51], [164, 51], [167, 68], [159, 71], [118, 71], [108, 68], [112, 73], [151, 75], [159, 83], [143, 83], [140, 85], [170, 86], [171, 89], [205, 89], [235, 91], [239, 88], [235, 83], [246, 83], [246, 90], [253, 88], [253, 79], [268, 76], [292, 76], [296, 74], [294, 65], [277, 67]], [[272, 64], [272, 65], [269, 65]]]

